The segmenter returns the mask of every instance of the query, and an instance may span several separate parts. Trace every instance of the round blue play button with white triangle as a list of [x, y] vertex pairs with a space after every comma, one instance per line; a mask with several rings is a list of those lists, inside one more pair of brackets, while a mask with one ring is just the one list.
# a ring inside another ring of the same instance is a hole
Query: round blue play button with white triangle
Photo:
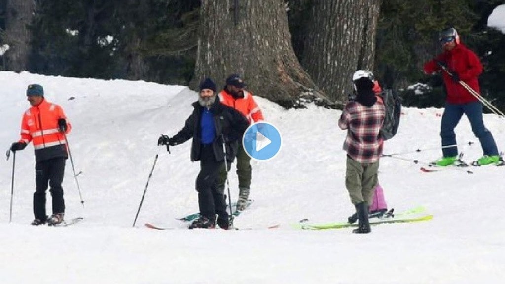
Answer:
[[281, 150], [279, 130], [268, 122], [251, 124], [244, 132], [242, 146], [247, 156], [258, 161], [268, 161]]

